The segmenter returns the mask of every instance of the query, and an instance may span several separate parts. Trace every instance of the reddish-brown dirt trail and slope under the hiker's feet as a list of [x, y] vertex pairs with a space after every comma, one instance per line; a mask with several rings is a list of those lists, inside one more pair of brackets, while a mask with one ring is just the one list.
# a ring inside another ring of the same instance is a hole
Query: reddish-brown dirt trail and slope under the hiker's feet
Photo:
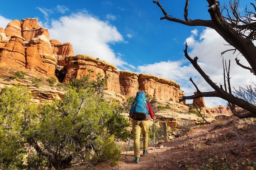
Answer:
[[[134, 163], [133, 151], [122, 152], [119, 164], [108, 162], [97, 166], [81, 165], [68, 170], [187, 170], [186, 165], [197, 170], [209, 157], [224, 154], [229, 160], [247, 158], [256, 163], [256, 126], [226, 122], [222, 126], [210, 124], [193, 128], [188, 135], [148, 147], [148, 154]], [[154, 158], [155, 155], [155, 158]], [[188, 163], [189, 162], [189, 163]]]

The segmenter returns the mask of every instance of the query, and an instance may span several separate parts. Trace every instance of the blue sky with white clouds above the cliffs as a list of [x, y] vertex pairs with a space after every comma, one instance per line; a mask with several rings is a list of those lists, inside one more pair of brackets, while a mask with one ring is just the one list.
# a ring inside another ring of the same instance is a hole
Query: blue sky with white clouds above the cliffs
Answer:
[[[169, 15], [184, 19], [186, 0], [159, 0]], [[220, 1], [228, 2], [227, 0]], [[254, 0], [243, 0], [245, 5]], [[190, 19], [209, 20], [208, 3], [190, 1]], [[185, 95], [196, 91], [212, 91], [184, 57], [185, 42], [190, 57], [197, 56], [201, 68], [213, 82], [223, 84], [221, 52], [230, 49], [216, 31], [202, 26], [185, 26], [160, 20], [161, 9], [153, 0], [62, 0], [5, 1], [0, 10], [0, 27], [15, 19], [37, 18], [48, 29], [50, 39], [70, 42], [74, 54], [86, 54], [114, 64], [120, 71], [150, 73], [172, 79], [181, 85]], [[231, 85], [236, 88], [248, 83], [253, 75], [236, 66], [235, 58], [247, 66], [238, 53], [225, 53], [231, 60]], [[233, 89], [232, 89], [233, 90]], [[219, 98], [204, 98], [206, 106], [226, 105]], [[187, 104], [192, 103], [187, 100]]]

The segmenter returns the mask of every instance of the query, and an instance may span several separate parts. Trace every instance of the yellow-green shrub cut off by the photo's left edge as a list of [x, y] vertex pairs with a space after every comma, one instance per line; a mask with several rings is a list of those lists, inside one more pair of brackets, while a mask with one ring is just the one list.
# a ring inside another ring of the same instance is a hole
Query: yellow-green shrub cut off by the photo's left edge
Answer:
[[0, 169], [28, 168], [23, 164], [26, 135], [37, 116], [37, 105], [31, 104], [27, 88], [7, 87], [0, 91]]

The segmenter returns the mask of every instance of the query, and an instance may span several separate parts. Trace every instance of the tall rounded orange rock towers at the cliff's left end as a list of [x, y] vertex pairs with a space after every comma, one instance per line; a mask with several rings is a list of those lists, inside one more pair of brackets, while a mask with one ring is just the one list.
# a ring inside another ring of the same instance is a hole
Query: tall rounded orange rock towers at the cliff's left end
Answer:
[[74, 53], [69, 43], [55, 44], [51, 44], [48, 30], [40, 26], [36, 18], [9, 22], [6, 29], [0, 28], [0, 74], [16, 68], [17, 71], [27, 69], [56, 78], [56, 56]]

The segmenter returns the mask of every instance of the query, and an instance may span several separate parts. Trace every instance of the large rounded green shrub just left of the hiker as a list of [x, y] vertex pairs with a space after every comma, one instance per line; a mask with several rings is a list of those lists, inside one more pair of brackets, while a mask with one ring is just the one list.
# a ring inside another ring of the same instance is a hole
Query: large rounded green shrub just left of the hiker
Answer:
[[[31, 143], [40, 148], [37, 150], [39, 153], [41, 150], [56, 153], [54, 157], [47, 156], [48, 163], [56, 169], [59, 166], [67, 168], [75, 160], [96, 163], [110, 159], [115, 164], [121, 156], [121, 150], [113, 139], [126, 139], [128, 135], [121, 131], [129, 124], [121, 124], [121, 121], [118, 124], [120, 128], [115, 128], [117, 124], [111, 120], [121, 119], [121, 115], [113, 111], [117, 105], [109, 104], [94, 92], [91, 88], [79, 92], [70, 89], [62, 100], [40, 108], [40, 123], [33, 132], [36, 133], [33, 140], [37, 142]], [[62, 160], [62, 165], [55, 160]]]

